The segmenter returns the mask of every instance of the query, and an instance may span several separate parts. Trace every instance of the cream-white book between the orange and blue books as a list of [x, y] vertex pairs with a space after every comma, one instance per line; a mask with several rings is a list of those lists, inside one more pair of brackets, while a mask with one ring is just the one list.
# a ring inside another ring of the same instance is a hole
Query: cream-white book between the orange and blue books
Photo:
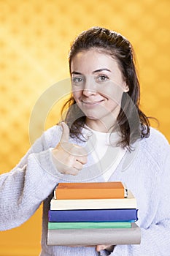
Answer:
[[128, 197], [112, 199], [71, 199], [58, 200], [53, 197], [50, 210], [137, 208], [136, 198], [128, 189]]

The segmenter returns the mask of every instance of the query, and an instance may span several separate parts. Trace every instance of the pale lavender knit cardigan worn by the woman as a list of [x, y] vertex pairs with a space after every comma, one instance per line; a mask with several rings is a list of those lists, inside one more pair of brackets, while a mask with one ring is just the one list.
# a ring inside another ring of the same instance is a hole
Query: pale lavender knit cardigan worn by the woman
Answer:
[[[44, 201], [40, 255], [95, 256], [94, 247], [47, 246], [47, 211], [53, 189], [59, 181], [103, 181], [103, 167], [112, 165], [112, 157], [108, 157], [112, 148], [99, 165], [93, 164], [89, 154], [88, 163], [80, 174], [68, 176], [58, 173], [51, 157], [50, 148], [57, 145], [60, 137], [60, 127], [48, 129], [11, 172], [0, 176], [0, 230], [11, 229], [26, 222]], [[85, 143], [79, 144], [85, 146]], [[149, 138], [136, 142], [135, 150], [132, 153], [126, 152], [109, 181], [123, 181], [131, 189], [139, 209], [137, 224], [142, 229], [140, 245], [117, 245], [111, 255], [168, 256], [170, 148], [161, 132], [151, 129]]]

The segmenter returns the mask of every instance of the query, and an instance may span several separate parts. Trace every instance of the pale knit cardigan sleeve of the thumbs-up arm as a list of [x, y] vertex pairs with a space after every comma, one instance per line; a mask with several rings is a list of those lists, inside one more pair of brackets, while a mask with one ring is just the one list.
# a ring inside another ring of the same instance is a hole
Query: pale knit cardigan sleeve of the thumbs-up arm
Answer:
[[13, 170], [0, 176], [0, 230], [26, 222], [58, 184], [60, 173], [45, 136], [36, 140]]

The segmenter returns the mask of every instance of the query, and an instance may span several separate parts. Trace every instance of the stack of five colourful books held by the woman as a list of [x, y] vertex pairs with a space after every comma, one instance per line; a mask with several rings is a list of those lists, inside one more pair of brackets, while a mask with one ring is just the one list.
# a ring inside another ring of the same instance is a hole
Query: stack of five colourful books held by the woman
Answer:
[[136, 198], [120, 181], [60, 183], [48, 213], [48, 245], [140, 244]]

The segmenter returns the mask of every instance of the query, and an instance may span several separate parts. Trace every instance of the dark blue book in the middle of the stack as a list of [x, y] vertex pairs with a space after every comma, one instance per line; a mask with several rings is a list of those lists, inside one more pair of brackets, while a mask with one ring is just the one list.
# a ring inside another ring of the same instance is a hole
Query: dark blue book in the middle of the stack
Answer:
[[137, 209], [49, 210], [49, 222], [132, 222]]

